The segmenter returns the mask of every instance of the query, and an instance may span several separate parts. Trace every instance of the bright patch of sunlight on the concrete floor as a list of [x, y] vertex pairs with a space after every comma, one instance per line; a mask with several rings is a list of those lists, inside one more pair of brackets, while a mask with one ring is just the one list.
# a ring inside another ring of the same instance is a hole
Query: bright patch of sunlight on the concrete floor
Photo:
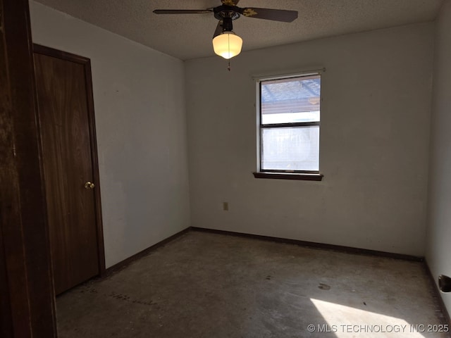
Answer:
[[[424, 328], [407, 323], [402, 318], [381, 315], [319, 299], [311, 299], [326, 323], [311, 323], [310, 332], [331, 332], [337, 338], [350, 337], [413, 337], [424, 338]], [[377, 336], [376, 336], [377, 334]]]

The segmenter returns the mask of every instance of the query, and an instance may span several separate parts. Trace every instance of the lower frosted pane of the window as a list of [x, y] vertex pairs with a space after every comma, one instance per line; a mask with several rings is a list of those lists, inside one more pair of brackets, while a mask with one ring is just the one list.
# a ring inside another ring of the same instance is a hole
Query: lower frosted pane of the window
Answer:
[[261, 170], [319, 170], [319, 126], [261, 129]]

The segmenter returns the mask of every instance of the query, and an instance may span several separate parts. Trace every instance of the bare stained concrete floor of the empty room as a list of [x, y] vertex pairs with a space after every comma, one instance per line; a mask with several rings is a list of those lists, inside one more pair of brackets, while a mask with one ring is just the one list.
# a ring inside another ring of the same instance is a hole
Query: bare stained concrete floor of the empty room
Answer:
[[423, 263], [193, 231], [59, 296], [58, 332], [66, 338], [450, 337], [424, 332], [445, 324], [432, 290]]

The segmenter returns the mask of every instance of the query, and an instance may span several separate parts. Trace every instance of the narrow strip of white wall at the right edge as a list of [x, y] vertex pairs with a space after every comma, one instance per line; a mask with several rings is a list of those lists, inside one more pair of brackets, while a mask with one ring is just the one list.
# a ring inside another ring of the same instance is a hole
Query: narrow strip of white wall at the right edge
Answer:
[[[436, 280], [451, 277], [451, 1], [437, 20], [431, 120], [426, 261]], [[451, 313], [451, 294], [442, 294]]]

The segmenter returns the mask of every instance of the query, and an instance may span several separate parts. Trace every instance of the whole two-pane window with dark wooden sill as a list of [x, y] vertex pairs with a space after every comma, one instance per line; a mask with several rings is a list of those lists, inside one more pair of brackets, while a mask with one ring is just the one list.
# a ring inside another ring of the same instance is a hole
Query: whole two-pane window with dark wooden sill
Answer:
[[319, 125], [321, 75], [258, 81], [258, 178], [321, 180]]

